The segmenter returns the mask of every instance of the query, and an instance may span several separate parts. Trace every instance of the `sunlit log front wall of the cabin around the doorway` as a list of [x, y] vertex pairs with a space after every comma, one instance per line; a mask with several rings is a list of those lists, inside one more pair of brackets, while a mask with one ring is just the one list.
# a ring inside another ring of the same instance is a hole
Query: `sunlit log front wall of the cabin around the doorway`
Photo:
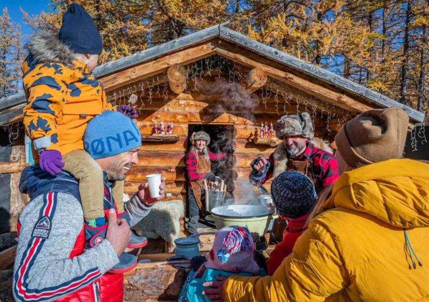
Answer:
[[[210, 81], [210, 79], [209, 79]], [[151, 99], [142, 98], [143, 104], [137, 102], [135, 107], [140, 110], [136, 119], [137, 126], [142, 135], [153, 134], [154, 121], [162, 120], [164, 123], [174, 123], [173, 134], [179, 139], [174, 143], [143, 142], [139, 151], [139, 163], [131, 168], [125, 182], [125, 191], [134, 193], [144, 175], [161, 172], [167, 181], [167, 192], [171, 194], [165, 200], [179, 199], [186, 205], [186, 167], [184, 159], [187, 153], [190, 124], [233, 125], [234, 143], [237, 150], [234, 153], [234, 195], [241, 201], [247, 201], [251, 194], [258, 193], [256, 187], [249, 184], [250, 163], [255, 157], [264, 155], [268, 157], [275, 148], [268, 145], [254, 144], [255, 133], [259, 132], [260, 123], [275, 122], [282, 115], [296, 113], [297, 105], [292, 101], [284, 106], [284, 99], [275, 99], [271, 95], [265, 101], [259, 91], [254, 92], [259, 98], [257, 105], [251, 112], [248, 107], [230, 106], [234, 102], [228, 95], [206, 94], [203, 90], [190, 93], [169, 93], [166, 98], [153, 94]], [[147, 95], [147, 94], [146, 94]], [[124, 103], [126, 100], [120, 100]], [[277, 104], [277, 108], [276, 105]], [[220, 108], [220, 109], [219, 109]], [[233, 108], [233, 110], [228, 110]], [[299, 105], [299, 112], [305, 111], [305, 105]], [[225, 110], [227, 109], [227, 110]], [[311, 106], [307, 111], [312, 114]], [[314, 117], [315, 132], [318, 136], [326, 136], [327, 117], [317, 112]], [[329, 127], [328, 127], [329, 128]], [[271, 182], [266, 188], [270, 189]]]

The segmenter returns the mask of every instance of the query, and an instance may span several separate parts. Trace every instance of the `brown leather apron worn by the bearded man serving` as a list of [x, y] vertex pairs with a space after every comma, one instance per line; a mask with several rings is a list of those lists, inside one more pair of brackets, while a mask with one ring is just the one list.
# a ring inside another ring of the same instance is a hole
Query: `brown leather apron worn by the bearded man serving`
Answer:
[[[291, 158], [288, 158], [287, 163], [287, 171], [297, 171], [304, 173], [307, 175], [313, 182], [314, 187], [316, 189], [316, 192], [320, 192], [320, 188], [318, 188], [316, 178], [314, 177], [313, 172], [313, 164], [312, 160], [310, 161], [303, 161], [303, 160], [293, 160]], [[273, 229], [270, 233], [270, 241], [274, 244], [278, 244], [283, 240], [283, 232], [287, 226], [287, 222], [283, 219], [277, 218], [274, 220]]]

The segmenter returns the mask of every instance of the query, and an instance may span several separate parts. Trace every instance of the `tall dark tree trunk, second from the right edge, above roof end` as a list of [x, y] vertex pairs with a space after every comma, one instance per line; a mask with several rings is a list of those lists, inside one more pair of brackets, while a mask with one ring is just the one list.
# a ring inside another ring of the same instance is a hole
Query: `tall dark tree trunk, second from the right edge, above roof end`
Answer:
[[404, 53], [401, 67], [401, 99], [400, 102], [407, 106], [411, 105], [409, 96], [407, 95], [408, 79], [409, 79], [409, 23], [411, 19], [411, 0], [407, 1], [406, 17], [405, 17], [405, 33], [404, 33]]

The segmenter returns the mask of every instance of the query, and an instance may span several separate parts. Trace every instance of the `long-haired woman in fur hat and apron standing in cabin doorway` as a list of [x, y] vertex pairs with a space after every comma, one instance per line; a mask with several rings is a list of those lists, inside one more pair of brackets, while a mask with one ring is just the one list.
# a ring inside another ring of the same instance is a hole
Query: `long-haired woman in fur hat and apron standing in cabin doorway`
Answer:
[[[191, 234], [197, 233], [197, 224], [200, 212], [205, 213], [203, 204], [204, 180], [214, 181], [216, 176], [212, 172], [211, 161], [218, 161], [227, 155], [226, 152], [215, 154], [207, 149], [210, 136], [204, 131], [193, 132], [191, 135], [191, 148], [185, 158], [186, 170], [189, 180], [189, 222], [187, 229]], [[228, 151], [234, 152], [235, 147]], [[227, 151], [227, 152], [228, 152]]]

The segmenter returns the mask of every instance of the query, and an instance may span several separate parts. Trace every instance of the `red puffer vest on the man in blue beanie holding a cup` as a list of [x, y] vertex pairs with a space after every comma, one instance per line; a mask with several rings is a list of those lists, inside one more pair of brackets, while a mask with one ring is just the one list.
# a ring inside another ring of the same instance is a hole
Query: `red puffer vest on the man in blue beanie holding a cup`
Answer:
[[[115, 205], [116, 208], [116, 205]], [[105, 210], [105, 213], [108, 211]], [[20, 234], [20, 223], [17, 230]], [[83, 253], [85, 247], [85, 224], [82, 224], [82, 229], [76, 238], [75, 245], [70, 253], [69, 258], [72, 259]], [[79, 290], [63, 297], [56, 302], [122, 302], [124, 294], [124, 275], [105, 273], [93, 283], [90, 283]]]

